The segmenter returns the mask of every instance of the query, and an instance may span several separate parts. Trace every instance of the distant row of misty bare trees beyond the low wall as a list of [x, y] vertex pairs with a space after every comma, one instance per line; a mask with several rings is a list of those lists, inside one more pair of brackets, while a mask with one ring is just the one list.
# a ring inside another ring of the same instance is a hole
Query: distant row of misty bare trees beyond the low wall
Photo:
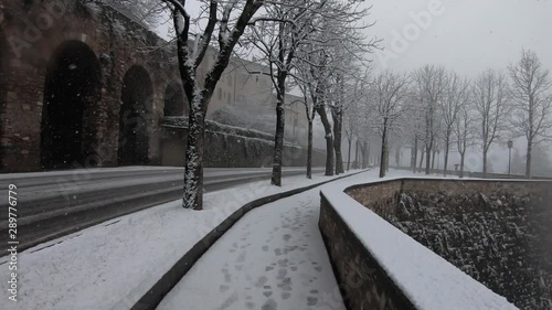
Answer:
[[[524, 137], [527, 178], [531, 177], [533, 147], [551, 139], [552, 81], [531, 51], [523, 50], [506, 72], [487, 70], [474, 81], [434, 65], [411, 74], [385, 71], [372, 77], [364, 92], [365, 100], [348, 110], [348, 127], [361, 141], [365, 141], [367, 127], [372, 133], [369, 139], [381, 140], [381, 178], [389, 169], [390, 137], [410, 146], [414, 172], [418, 153], [421, 167], [425, 156], [425, 173], [429, 174], [436, 152], [443, 150], [444, 175], [452, 149], [459, 153], [464, 175], [466, 152], [477, 147], [486, 174], [493, 143]], [[367, 125], [359, 126], [362, 122]]]

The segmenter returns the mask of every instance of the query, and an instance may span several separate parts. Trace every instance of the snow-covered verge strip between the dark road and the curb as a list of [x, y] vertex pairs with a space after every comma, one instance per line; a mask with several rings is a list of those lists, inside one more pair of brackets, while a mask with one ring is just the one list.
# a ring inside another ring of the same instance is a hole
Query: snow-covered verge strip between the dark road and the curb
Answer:
[[[201, 212], [170, 202], [30, 248], [18, 255], [19, 301], [10, 309], [129, 309], [195, 243], [245, 203], [328, 179], [298, 175], [284, 178], [283, 188], [268, 181], [240, 185], [205, 194]], [[6, 263], [6, 257], [0, 258], [2, 284], [10, 274]], [[0, 300], [8, 300], [7, 289]]]

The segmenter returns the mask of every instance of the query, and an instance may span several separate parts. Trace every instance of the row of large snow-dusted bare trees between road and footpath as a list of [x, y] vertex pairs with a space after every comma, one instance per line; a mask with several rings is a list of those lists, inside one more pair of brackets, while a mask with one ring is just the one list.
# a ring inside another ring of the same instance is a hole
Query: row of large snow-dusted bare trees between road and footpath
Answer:
[[[94, 1], [94, 0], [82, 0]], [[367, 40], [370, 8], [339, 0], [97, 0], [156, 24], [170, 15], [178, 70], [190, 104], [183, 207], [203, 207], [205, 116], [211, 96], [234, 55], [253, 55], [268, 67], [277, 97], [272, 184], [282, 185], [286, 93], [300, 89], [309, 121], [307, 177], [311, 177], [312, 121], [319, 115], [328, 150], [326, 174], [343, 171], [341, 131], [344, 103], [359, 88], [359, 67], [376, 39]], [[214, 65], [204, 77], [205, 55]], [[363, 73], [362, 73], [363, 74]], [[357, 88], [354, 88], [357, 87]], [[352, 93], [351, 93], [352, 92]]]

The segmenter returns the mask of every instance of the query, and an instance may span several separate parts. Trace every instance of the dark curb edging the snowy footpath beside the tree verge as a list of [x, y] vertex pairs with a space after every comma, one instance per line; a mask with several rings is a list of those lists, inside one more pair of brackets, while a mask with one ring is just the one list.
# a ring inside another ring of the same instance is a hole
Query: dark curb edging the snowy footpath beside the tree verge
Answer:
[[130, 309], [131, 310], [155, 310], [161, 302], [163, 297], [180, 281], [180, 279], [192, 268], [192, 266], [201, 258], [201, 256], [224, 234], [226, 233], [242, 216], [255, 207], [267, 203], [285, 199], [305, 191], [318, 188], [326, 183], [330, 183], [340, 179], [349, 178], [369, 170], [362, 170], [348, 175], [339, 177], [305, 188], [290, 190], [287, 192], [268, 195], [244, 204], [236, 210], [232, 215], [226, 217], [219, 226], [213, 228], [201, 240], [199, 240], [182, 258], [180, 258], [149, 290]]

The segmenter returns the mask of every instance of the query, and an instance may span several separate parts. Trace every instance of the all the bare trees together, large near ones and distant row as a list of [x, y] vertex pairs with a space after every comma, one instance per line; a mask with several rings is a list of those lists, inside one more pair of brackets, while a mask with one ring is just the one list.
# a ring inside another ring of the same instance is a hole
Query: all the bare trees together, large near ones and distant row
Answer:
[[[444, 145], [445, 173], [453, 146], [460, 153], [460, 171], [464, 171], [466, 150], [477, 143], [482, 150], [486, 173], [492, 143], [524, 136], [526, 173], [530, 177], [531, 149], [549, 138], [546, 132], [552, 127], [549, 72], [529, 51], [523, 51], [521, 60], [508, 67], [510, 78], [488, 70], [477, 79], [468, 81], [433, 65], [411, 74], [388, 71], [373, 76], [368, 57], [380, 41], [365, 34], [372, 24], [362, 21], [371, 8], [361, 2], [120, 0], [115, 3], [129, 3], [127, 8], [149, 23], [158, 19], [145, 17], [171, 18], [178, 70], [190, 104], [184, 207], [202, 209], [205, 116], [233, 55], [254, 55], [269, 68], [268, 73], [258, 74], [269, 75], [277, 96], [272, 174], [275, 185], [282, 185], [284, 107], [290, 88], [302, 93], [309, 124], [308, 178], [317, 115], [325, 128], [327, 175], [343, 172], [344, 131], [349, 157], [351, 142], [357, 140], [361, 159], [355, 162], [361, 161], [362, 167], [368, 165], [370, 140], [381, 139], [381, 177], [389, 168], [390, 137], [400, 137], [412, 145], [413, 167], [421, 150], [421, 162], [425, 154], [426, 173], [438, 143]], [[200, 78], [198, 66], [206, 54], [214, 54], [215, 62]]]

